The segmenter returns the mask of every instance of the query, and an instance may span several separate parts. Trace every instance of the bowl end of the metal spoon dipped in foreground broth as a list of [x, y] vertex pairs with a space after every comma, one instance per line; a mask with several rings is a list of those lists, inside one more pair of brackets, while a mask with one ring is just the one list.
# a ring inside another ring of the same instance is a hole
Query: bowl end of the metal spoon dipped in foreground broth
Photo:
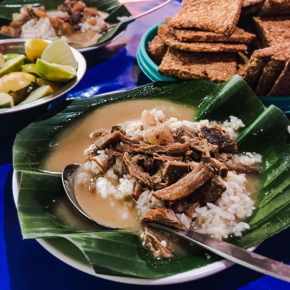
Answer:
[[75, 206], [76, 209], [78, 209], [78, 211], [80, 213], [82, 213], [85, 217], [87, 217], [89, 220], [91, 220], [92, 222], [99, 224], [100, 226], [104, 226], [106, 228], [109, 229], [117, 229], [113, 226], [109, 226], [108, 224], [104, 224], [102, 222], [99, 222], [95, 219], [93, 219], [88, 213], [86, 213], [81, 206], [79, 205], [79, 203], [77, 202], [77, 199], [75, 197], [75, 177], [77, 175], [77, 171], [79, 170], [80, 165], [78, 164], [68, 164], [64, 170], [62, 171], [62, 184], [64, 186], [64, 190], [68, 196], [68, 198], [70, 199], [71, 203]]

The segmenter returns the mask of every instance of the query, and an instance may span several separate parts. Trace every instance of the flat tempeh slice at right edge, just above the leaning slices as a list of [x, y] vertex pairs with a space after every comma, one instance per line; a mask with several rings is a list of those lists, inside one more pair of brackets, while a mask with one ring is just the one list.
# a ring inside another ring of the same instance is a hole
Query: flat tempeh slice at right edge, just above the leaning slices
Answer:
[[253, 17], [264, 46], [290, 41], [290, 16]]

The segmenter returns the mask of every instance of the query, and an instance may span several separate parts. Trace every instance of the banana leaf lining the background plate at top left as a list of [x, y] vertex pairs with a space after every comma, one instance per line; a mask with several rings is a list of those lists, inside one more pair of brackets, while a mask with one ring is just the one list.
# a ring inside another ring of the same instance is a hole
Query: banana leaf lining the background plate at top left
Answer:
[[[127, 8], [119, 3], [117, 0], [83, 0], [88, 7], [97, 7], [100, 11], [107, 12], [110, 15], [105, 19], [108, 23], [118, 23], [120, 22], [117, 17], [130, 17], [131, 14]], [[21, 7], [33, 6], [39, 7], [44, 5], [46, 10], [56, 10], [57, 6], [64, 3], [64, 0], [5, 0], [0, 2], [0, 26], [8, 25], [12, 20], [13, 13], [19, 13]], [[120, 24], [110, 31], [106, 32], [102, 37], [100, 37], [93, 46], [103, 44], [110, 41], [115, 36], [117, 36], [121, 31], [123, 31], [128, 23]], [[0, 33], [1, 39], [12, 38], [8, 35]]]

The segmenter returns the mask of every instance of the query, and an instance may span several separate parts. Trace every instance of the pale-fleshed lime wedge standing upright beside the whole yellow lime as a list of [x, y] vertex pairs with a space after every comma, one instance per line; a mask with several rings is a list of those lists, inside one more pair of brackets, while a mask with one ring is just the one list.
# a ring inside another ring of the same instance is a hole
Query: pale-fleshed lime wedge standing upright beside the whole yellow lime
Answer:
[[77, 61], [75, 60], [73, 52], [63, 39], [57, 39], [51, 42], [44, 52], [42, 52], [41, 59], [50, 64], [72, 66], [77, 69]]

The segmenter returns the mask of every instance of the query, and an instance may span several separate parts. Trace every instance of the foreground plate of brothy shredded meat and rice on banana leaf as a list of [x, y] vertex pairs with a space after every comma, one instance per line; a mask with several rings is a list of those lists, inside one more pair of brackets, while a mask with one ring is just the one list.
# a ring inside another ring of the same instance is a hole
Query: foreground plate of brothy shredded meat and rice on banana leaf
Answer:
[[[64, 105], [17, 135], [13, 191], [23, 238], [41, 239], [77, 269], [168, 284], [230, 265], [146, 230], [156, 213], [246, 249], [289, 226], [290, 122], [238, 75], [220, 84], [156, 82]], [[70, 163], [82, 165], [78, 202], [120, 229], [92, 224], [70, 204], [61, 181]], [[201, 169], [202, 184], [191, 193], [184, 178]], [[172, 190], [169, 199], [164, 189]]]

